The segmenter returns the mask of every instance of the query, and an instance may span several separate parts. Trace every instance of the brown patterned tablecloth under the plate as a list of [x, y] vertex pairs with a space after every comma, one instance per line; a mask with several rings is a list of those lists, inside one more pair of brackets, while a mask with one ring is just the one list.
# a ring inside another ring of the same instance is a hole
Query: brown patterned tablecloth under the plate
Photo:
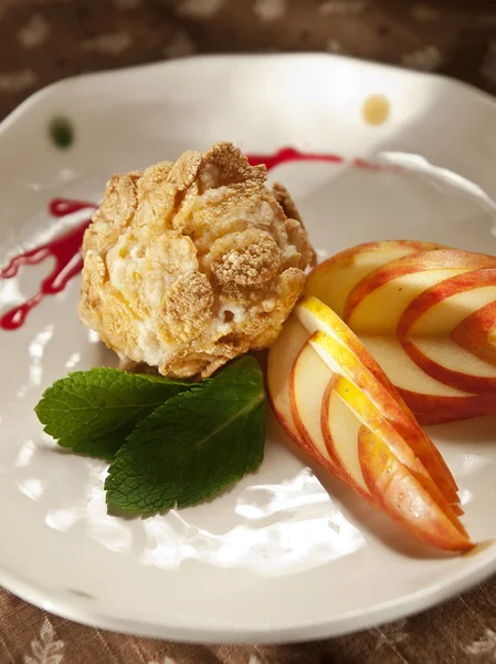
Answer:
[[[496, 0], [0, 0], [0, 117], [72, 74], [249, 51], [344, 53], [439, 71], [496, 92]], [[113, 634], [0, 590], [0, 664], [407, 662], [496, 662], [496, 579], [387, 626], [275, 647]]]

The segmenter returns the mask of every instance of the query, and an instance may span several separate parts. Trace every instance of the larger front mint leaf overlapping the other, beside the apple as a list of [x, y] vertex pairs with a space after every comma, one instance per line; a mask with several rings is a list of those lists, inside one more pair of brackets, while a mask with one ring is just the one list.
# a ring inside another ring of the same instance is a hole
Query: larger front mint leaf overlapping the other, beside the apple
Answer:
[[264, 439], [262, 371], [243, 356], [137, 425], [109, 467], [107, 504], [149, 515], [210, 498], [256, 470]]

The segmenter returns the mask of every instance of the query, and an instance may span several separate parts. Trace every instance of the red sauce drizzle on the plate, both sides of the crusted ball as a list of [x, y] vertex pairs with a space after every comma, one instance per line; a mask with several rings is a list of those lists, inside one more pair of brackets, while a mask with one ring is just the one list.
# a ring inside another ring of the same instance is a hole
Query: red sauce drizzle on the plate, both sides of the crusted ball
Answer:
[[[293, 147], [283, 147], [273, 154], [250, 155], [247, 159], [252, 166], [265, 164], [267, 170], [272, 170], [282, 164], [292, 162], [327, 162], [330, 164], [342, 164], [345, 158], [334, 154], [303, 153]], [[382, 169], [383, 166], [367, 162], [365, 159], [351, 159], [351, 165], [356, 168]], [[391, 169], [391, 167], [386, 167]], [[12, 279], [24, 266], [34, 266], [52, 257], [55, 264], [50, 274], [42, 281], [39, 292], [27, 302], [13, 307], [0, 317], [0, 329], [17, 330], [22, 326], [29, 312], [34, 309], [46, 295], [54, 295], [64, 290], [67, 282], [80, 273], [83, 267], [83, 257], [81, 246], [83, 235], [89, 225], [93, 211], [96, 209], [94, 203], [85, 200], [71, 200], [67, 198], [54, 198], [50, 201], [49, 210], [54, 217], [64, 218], [81, 210], [88, 210], [88, 217], [80, 226], [56, 237], [55, 239], [41, 245], [29, 251], [14, 256], [9, 264], [0, 270], [0, 279]]]

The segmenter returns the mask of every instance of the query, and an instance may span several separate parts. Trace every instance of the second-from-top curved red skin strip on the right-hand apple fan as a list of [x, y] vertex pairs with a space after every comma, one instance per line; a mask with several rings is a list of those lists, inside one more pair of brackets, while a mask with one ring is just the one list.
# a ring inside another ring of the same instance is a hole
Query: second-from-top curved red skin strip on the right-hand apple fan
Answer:
[[344, 319], [349, 321], [363, 298], [399, 277], [432, 270], [462, 269], [468, 272], [469, 270], [495, 267], [496, 258], [494, 256], [472, 253], [458, 249], [421, 251], [405, 256], [374, 270], [352, 289], [346, 301]]

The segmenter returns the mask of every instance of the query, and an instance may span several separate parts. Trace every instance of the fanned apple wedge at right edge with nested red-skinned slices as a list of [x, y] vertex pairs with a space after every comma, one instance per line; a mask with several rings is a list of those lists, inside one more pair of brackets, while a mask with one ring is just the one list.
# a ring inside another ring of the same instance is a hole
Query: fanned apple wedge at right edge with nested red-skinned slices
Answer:
[[[350, 269], [359, 274], [353, 264]], [[496, 413], [496, 326], [490, 318], [496, 312], [490, 309], [496, 258], [457, 249], [421, 250], [359, 276], [344, 318], [419, 422]], [[345, 287], [351, 282], [348, 277]], [[342, 288], [326, 290], [321, 283], [324, 300], [342, 309]], [[477, 315], [475, 308], [484, 314]]]

